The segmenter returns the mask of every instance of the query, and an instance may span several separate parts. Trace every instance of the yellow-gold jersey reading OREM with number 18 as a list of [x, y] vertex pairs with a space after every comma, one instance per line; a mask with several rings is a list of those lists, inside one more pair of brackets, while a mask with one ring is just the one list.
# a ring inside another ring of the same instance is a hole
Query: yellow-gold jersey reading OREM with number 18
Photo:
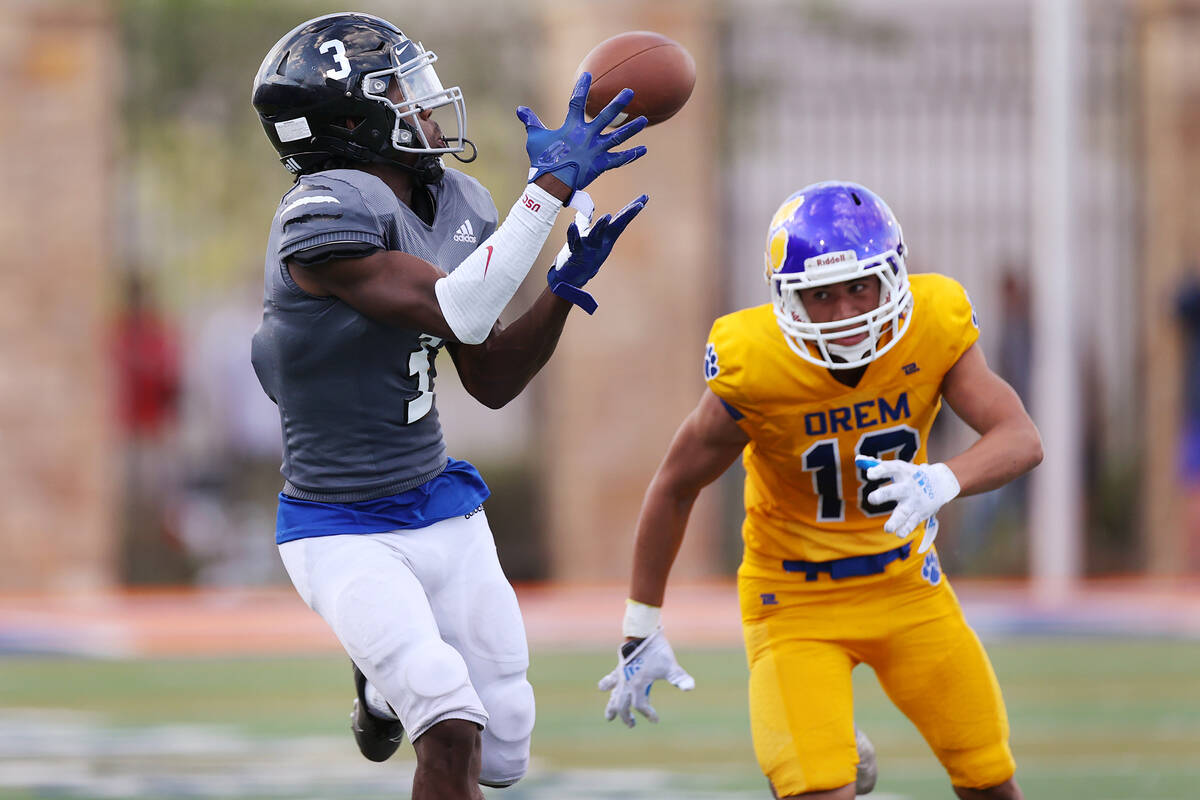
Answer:
[[[910, 283], [907, 332], [853, 387], [792, 353], [770, 303], [713, 324], [708, 387], [750, 437], [743, 453], [748, 552], [828, 561], [902, 543], [883, 530], [894, 504], [866, 499], [882, 483], [868, 481], [854, 456], [926, 462], [942, 378], [979, 337], [961, 284], [932, 273]], [[910, 539], [923, 531], [918, 525]]]

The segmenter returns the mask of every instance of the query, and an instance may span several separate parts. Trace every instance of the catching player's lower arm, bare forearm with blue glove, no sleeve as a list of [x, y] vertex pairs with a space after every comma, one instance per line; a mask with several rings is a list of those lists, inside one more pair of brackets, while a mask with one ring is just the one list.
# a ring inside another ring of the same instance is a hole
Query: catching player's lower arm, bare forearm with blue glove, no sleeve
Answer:
[[488, 408], [500, 408], [520, 395], [546, 365], [572, 305], [589, 314], [596, 303], [583, 290], [600, 270], [625, 227], [646, 206], [642, 194], [616, 217], [604, 215], [590, 224], [576, 213], [566, 231], [566, 245], [546, 276], [547, 287], [533, 306], [511, 325], [499, 323], [481, 344], [451, 345], [450, 355], [463, 386]]

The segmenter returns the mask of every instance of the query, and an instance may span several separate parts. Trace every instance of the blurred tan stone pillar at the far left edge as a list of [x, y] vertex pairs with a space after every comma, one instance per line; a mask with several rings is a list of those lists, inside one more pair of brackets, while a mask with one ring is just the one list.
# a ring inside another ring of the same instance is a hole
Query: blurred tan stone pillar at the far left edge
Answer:
[[104, 306], [119, 97], [103, 4], [0, 16], [0, 590], [112, 581]]

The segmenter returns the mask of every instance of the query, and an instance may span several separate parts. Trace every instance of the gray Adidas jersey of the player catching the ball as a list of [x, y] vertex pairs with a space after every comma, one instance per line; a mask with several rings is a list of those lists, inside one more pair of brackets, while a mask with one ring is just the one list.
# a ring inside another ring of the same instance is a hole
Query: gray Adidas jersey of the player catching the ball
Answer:
[[356, 169], [304, 175], [280, 201], [266, 247], [263, 323], [252, 360], [280, 408], [284, 493], [326, 503], [396, 494], [446, 463], [433, 403], [442, 339], [367, 319], [304, 291], [284, 259], [400, 249], [451, 271], [496, 229], [478, 181], [446, 169], [425, 224], [378, 178]]

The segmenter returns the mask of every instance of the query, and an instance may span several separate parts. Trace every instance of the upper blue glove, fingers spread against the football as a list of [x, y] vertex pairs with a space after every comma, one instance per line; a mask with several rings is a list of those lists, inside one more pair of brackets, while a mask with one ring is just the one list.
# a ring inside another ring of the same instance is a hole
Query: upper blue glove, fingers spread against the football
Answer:
[[600, 173], [628, 164], [646, 155], [646, 148], [608, 152], [610, 149], [646, 127], [646, 118], [626, 122], [610, 134], [604, 130], [620, 114], [634, 97], [631, 89], [622, 89], [612, 102], [604, 107], [590, 122], [583, 120], [583, 106], [592, 86], [592, 73], [580, 76], [571, 102], [566, 109], [566, 121], [562, 127], [548, 130], [538, 115], [524, 106], [517, 107], [517, 119], [526, 126], [526, 152], [529, 154], [529, 182], [550, 173], [566, 184], [571, 191], [581, 190]]

